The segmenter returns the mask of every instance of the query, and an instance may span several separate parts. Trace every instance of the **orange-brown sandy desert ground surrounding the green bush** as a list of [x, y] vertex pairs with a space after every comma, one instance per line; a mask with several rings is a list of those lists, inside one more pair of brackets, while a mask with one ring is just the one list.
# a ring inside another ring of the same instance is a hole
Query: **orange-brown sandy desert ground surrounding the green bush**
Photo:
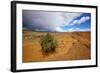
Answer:
[[91, 58], [90, 32], [51, 33], [58, 41], [55, 53], [43, 55], [40, 35], [45, 32], [23, 31], [24, 63], [39, 61], [85, 60]]

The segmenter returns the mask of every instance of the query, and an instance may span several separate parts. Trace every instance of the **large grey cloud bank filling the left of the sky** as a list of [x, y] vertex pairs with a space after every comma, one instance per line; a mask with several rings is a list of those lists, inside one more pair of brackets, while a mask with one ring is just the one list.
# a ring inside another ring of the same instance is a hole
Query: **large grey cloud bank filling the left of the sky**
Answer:
[[64, 31], [61, 27], [70, 25], [69, 23], [81, 14], [23, 10], [23, 26], [37, 31]]

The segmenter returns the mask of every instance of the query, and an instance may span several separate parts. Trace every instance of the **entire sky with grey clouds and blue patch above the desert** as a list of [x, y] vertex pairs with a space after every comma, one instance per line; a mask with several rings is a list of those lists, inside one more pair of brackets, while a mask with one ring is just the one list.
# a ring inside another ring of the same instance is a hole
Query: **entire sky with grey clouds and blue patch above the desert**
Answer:
[[49, 32], [90, 31], [91, 14], [23, 10], [23, 29]]

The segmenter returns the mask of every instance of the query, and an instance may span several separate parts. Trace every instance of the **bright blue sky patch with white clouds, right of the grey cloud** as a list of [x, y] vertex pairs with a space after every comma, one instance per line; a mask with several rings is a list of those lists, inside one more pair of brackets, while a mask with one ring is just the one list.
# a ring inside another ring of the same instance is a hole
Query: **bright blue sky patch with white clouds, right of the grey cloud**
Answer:
[[64, 26], [63, 30], [67, 31], [90, 31], [91, 29], [91, 14], [82, 13], [79, 17], [73, 19], [69, 26]]

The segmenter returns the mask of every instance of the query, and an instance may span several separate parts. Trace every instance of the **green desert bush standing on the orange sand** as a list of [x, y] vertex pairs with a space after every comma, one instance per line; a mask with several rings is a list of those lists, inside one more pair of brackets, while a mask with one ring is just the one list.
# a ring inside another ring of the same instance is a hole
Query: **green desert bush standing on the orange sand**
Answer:
[[57, 47], [57, 40], [54, 39], [54, 37], [47, 33], [46, 35], [42, 35], [40, 39], [42, 52], [44, 54], [48, 54], [50, 52], [55, 52]]

